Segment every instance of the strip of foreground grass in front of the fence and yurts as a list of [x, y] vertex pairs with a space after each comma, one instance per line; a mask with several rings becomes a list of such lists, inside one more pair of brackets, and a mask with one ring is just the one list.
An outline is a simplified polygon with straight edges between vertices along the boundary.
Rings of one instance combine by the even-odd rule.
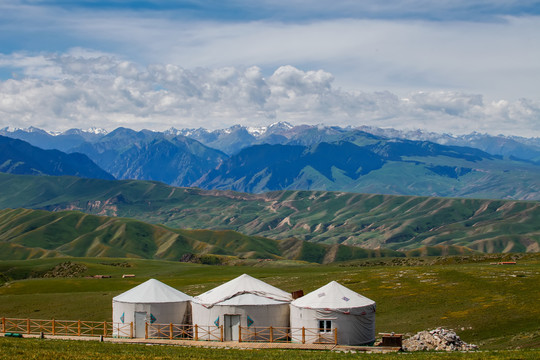
[[[180, 346], [147, 346], [138, 344], [111, 344], [96, 341], [65, 341], [0, 338], [6, 359], [357, 359], [395, 360], [403, 354], [352, 354], [317, 350], [238, 350], [209, 349]], [[536, 360], [539, 351], [497, 351], [478, 353], [418, 353], [405, 356], [410, 360]]]

